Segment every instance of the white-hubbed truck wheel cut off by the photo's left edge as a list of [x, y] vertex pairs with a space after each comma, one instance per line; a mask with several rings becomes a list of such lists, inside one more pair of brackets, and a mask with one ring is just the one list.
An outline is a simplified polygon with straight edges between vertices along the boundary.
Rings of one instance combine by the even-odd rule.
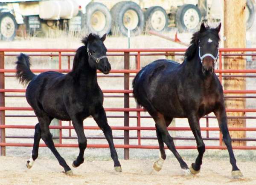
[[14, 16], [9, 13], [0, 14], [0, 39], [6, 41], [14, 40], [16, 35], [17, 23]]

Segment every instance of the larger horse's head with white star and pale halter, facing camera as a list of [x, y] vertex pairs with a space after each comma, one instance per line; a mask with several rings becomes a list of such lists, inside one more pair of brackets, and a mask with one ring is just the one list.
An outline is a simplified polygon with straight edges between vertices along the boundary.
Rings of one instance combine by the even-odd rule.
[[201, 24], [201, 37], [198, 40], [198, 55], [202, 63], [202, 72], [205, 75], [212, 74], [215, 62], [218, 59], [218, 33], [221, 29], [221, 23], [217, 28], [206, 28], [204, 23]]

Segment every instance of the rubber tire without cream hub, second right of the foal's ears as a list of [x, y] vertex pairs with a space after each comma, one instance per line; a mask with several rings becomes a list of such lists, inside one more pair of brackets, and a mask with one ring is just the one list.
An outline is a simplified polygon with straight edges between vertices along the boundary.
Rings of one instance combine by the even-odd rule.
[[125, 25], [123, 24], [123, 16], [125, 12], [128, 11], [129, 9], [134, 10], [137, 13], [139, 18], [139, 23], [137, 27], [131, 30], [131, 36], [136, 36], [143, 32], [145, 19], [144, 19], [143, 11], [142, 9], [140, 9], [140, 6], [134, 2], [122, 1], [122, 2], [116, 3], [115, 6], [113, 6], [110, 11], [113, 19], [112, 26], [111, 26], [112, 34], [113, 32], [115, 32], [114, 31], [115, 28], [119, 28], [119, 33], [127, 36], [128, 29], [125, 28]]

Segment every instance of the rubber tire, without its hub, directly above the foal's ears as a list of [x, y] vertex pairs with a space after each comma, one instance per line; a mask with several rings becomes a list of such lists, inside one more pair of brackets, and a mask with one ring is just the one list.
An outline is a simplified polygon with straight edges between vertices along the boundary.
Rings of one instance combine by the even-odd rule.
[[[95, 11], [101, 11], [105, 15], [106, 24], [105, 24], [105, 27], [102, 29], [102, 31], [96, 31], [90, 25], [91, 16]], [[111, 22], [112, 22], [111, 14], [108, 8], [102, 3], [89, 3], [86, 6], [86, 13], [82, 15], [81, 22], [82, 22], [81, 23], [82, 29], [84, 29], [88, 34], [94, 33], [94, 34], [103, 35], [103, 34], [109, 34], [109, 32], [111, 31]]]

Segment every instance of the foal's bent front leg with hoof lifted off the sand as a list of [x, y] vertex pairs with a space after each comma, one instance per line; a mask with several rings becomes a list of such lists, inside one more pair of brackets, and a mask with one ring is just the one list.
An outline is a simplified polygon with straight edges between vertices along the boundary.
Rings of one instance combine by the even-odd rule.
[[76, 160], [73, 161], [73, 164], [72, 164], [72, 166], [76, 168], [76, 167], [79, 167], [84, 162], [84, 150], [87, 147], [87, 139], [84, 135], [83, 120], [80, 120], [78, 118], [73, 118], [72, 123], [77, 134], [78, 145], [79, 145], [79, 155], [76, 158]]

